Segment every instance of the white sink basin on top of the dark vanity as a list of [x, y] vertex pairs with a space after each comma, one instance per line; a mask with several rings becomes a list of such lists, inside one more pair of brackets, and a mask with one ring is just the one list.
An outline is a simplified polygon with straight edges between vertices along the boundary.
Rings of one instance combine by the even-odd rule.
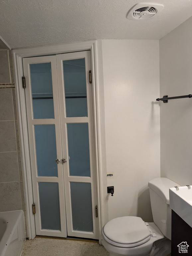
[[169, 205], [190, 227], [192, 227], [192, 185], [169, 189]]

